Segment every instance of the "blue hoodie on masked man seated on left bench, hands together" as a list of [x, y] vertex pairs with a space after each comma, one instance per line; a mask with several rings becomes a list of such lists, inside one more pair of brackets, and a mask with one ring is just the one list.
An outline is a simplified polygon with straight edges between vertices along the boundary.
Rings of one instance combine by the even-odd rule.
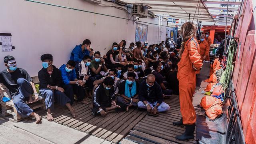
[[74, 81], [76, 79], [76, 70], [73, 69], [71, 72], [67, 72], [65, 68], [66, 64], [60, 66], [62, 82], [67, 85], [70, 81]]

